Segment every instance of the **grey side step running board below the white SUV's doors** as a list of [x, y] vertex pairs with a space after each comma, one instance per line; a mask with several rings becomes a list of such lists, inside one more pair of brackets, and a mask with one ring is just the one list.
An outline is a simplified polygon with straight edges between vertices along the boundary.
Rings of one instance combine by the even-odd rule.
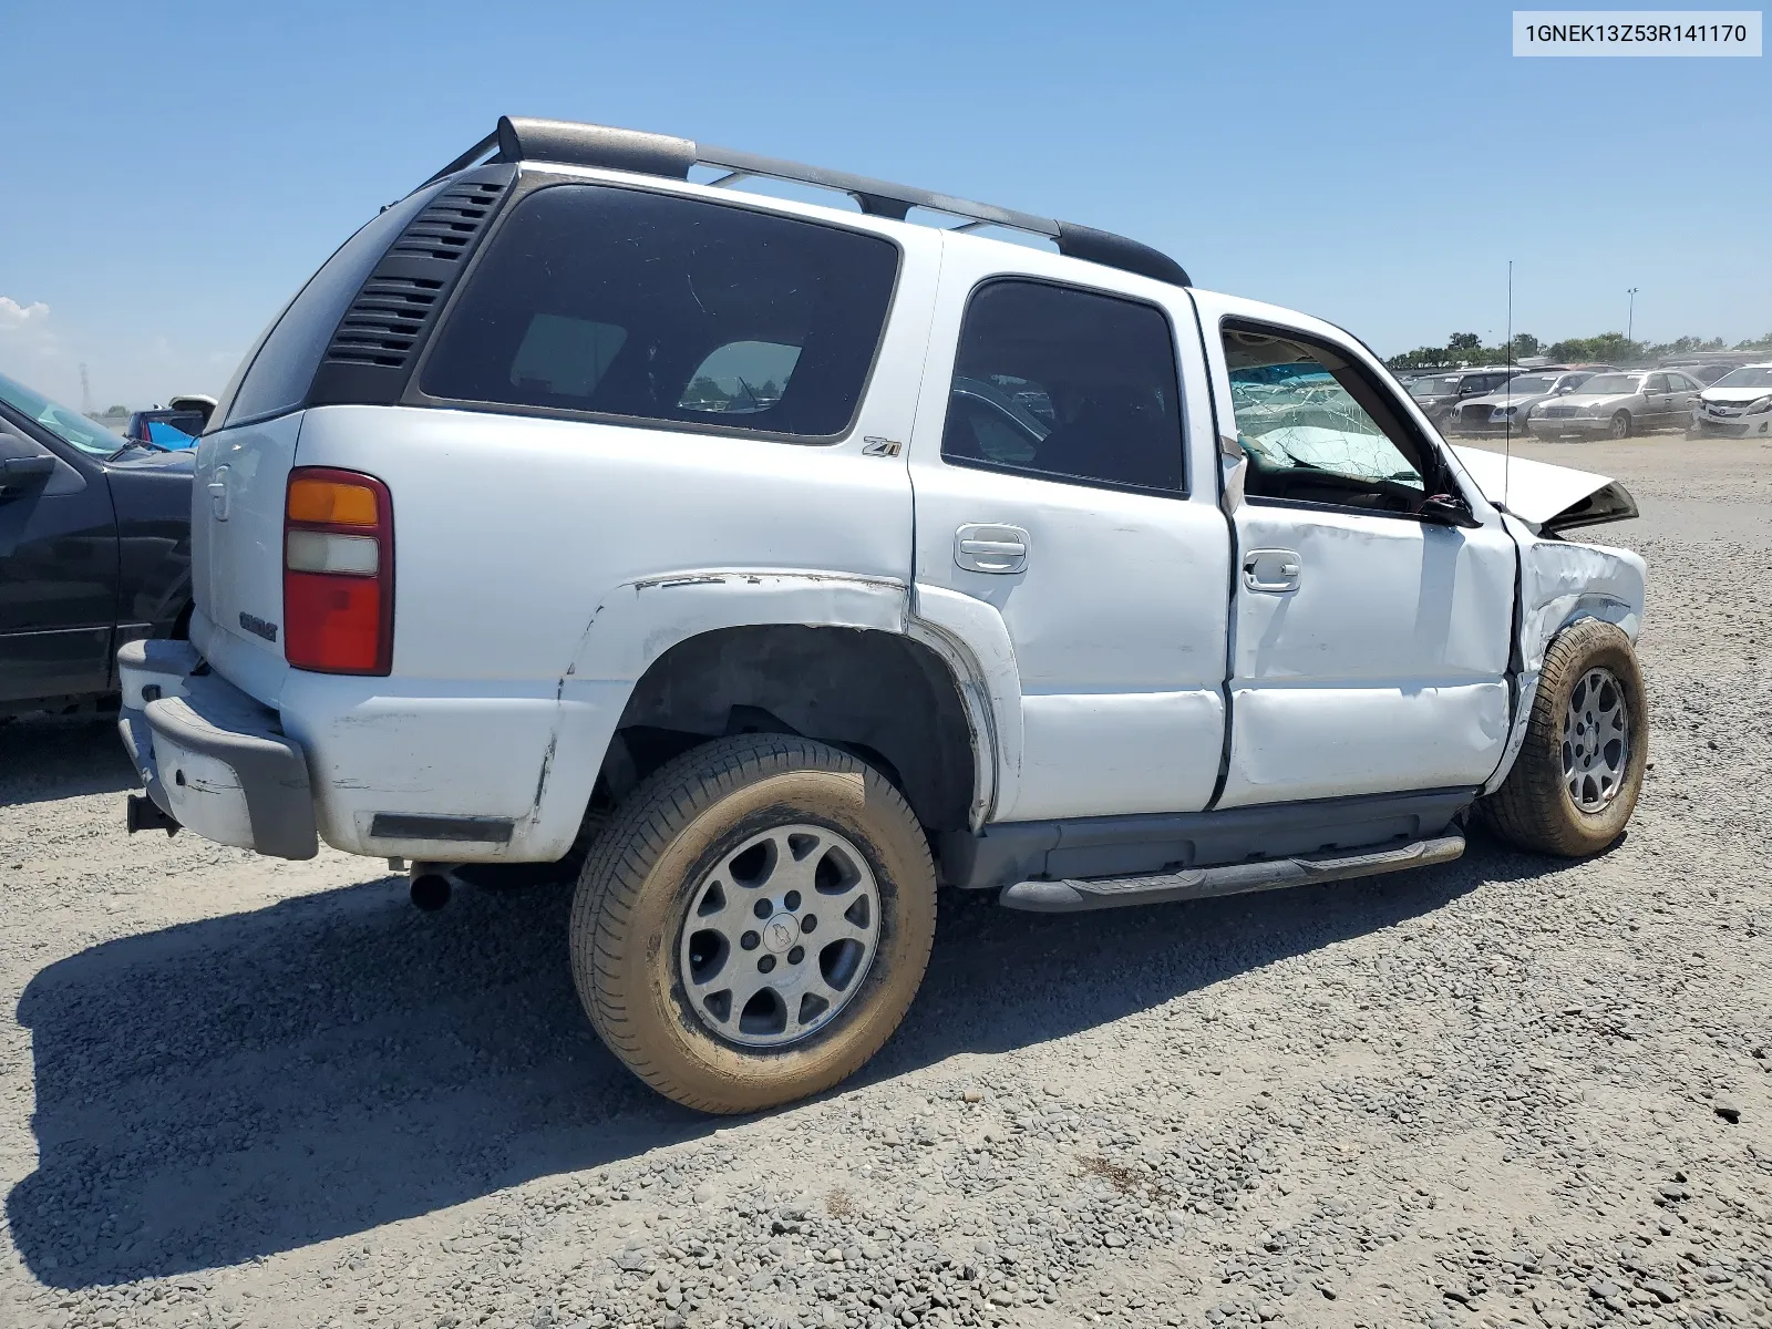
[[1361, 854], [1313, 854], [1310, 858], [1272, 858], [1258, 863], [1230, 863], [1217, 868], [1157, 872], [1148, 877], [1090, 877], [1086, 881], [1017, 881], [1006, 886], [998, 904], [1037, 914], [1070, 914], [1081, 909], [1115, 909], [1123, 904], [1162, 904], [1166, 900], [1203, 900], [1209, 895], [1272, 891], [1281, 886], [1306, 886], [1313, 881], [1375, 877], [1380, 872], [1423, 868], [1449, 863], [1464, 852], [1462, 835], [1414, 840], [1396, 849]]

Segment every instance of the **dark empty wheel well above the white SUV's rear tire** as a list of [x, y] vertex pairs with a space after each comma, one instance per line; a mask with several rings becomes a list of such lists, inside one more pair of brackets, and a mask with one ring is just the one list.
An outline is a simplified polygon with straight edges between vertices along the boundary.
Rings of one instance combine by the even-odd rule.
[[725, 734], [797, 734], [861, 757], [932, 835], [968, 826], [976, 753], [948, 666], [911, 638], [778, 624], [679, 641], [634, 684], [597, 797]]

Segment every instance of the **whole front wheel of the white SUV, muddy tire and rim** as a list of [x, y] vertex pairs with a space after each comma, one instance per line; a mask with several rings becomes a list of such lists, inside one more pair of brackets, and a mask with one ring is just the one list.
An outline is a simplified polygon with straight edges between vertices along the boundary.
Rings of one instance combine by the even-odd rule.
[[1584, 618], [1545, 652], [1526, 741], [1480, 813], [1520, 849], [1597, 854], [1623, 835], [1637, 806], [1648, 739], [1643, 670], [1630, 638]]

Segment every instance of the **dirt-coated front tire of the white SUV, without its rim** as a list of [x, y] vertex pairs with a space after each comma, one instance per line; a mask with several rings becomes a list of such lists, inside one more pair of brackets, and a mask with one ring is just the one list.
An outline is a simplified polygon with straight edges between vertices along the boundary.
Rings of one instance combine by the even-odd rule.
[[[1575, 806], [1563, 783], [1563, 727], [1575, 684], [1597, 666], [1611, 670], [1625, 693], [1630, 751], [1618, 794], [1604, 810], [1589, 813]], [[1540, 854], [1581, 858], [1600, 852], [1623, 835], [1637, 806], [1648, 737], [1643, 670], [1630, 638], [1613, 624], [1582, 618], [1563, 629], [1545, 652], [1526, 741], [1501, 789], [1478, 804], [1483, 822], [1508, 843]]]

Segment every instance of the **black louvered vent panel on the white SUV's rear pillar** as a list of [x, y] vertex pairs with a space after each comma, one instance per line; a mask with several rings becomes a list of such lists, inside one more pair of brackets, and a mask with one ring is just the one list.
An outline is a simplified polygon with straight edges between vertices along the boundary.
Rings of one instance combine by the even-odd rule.
[[[393, 400], [425, 331], [498, 211], [505, 179], [459, 179], [415, 216], [338, 321], [312, 404]], [[372, 386], [374, 385], [374, 386]]]

